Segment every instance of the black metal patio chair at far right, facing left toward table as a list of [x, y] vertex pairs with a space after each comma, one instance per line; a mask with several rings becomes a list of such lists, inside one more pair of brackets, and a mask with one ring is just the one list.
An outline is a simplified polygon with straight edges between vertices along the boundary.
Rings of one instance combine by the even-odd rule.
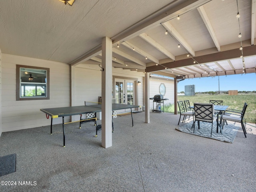
[[243, 119], [244, 119], [244, 114], [245, 114], [247, 106], [248, 106], [248, 104], [244, 103], [244, 107], [243, 107], [242, 111], [236, 110], [236, 109], [227, 109], [221, 117], [221, 121], [223, 122], [222, 129], [224, 128], [224, 121], [233, 121], [233, 122], [241, 123], [242, 129], [244, 132], [244, 136], [246, 137], [247, 133], [246, 133], [246, 129], [244, 127]]

